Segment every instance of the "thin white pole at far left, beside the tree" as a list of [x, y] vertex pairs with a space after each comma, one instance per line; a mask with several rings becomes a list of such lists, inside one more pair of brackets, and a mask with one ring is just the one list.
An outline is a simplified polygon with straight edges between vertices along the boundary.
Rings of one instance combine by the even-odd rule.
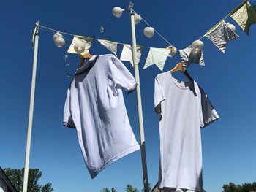
[[29, 154], [31, 146], [31, 132], [32, 132], [32, 122], [33, 122], [33, 112], [34, 112], [34, 90], [36, 87], [36, 73], [37, 73], [37, 52], [38, 52], [38, 32], [39, 23], [37, 22], [37, 31], [34, 37], [34, 60], [33, 60], [33, 72], [31, 80], [31, 92], [30, 92], [30, 104], [29, 104], [29, 124], [28, 124], [28, 134], [26, 137], [26, 157], [25, 157], [25, 167], [24, 167], [24, 178], [23, 178], [23, 192], [27, 191], [28, 188], [28, 177], [29, 177]]

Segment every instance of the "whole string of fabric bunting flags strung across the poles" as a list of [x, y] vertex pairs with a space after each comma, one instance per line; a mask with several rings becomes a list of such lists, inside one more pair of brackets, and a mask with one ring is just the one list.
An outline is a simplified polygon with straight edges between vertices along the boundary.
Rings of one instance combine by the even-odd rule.
[[[134, 11], [132, 9], [132, 11]], [[135, 11], [134, 11], [135, 12]], [[140, 17], [135, 12], [135, 18], [136, 16]], [[220, 20], [215, 26], [213, 26], [210, 30], [206, 32], [206, 34], [203, 35], [203, 37], [207, 37], [222, 53], [225, 53], [227, 43], [237, 39], [239, 36], [236, 34], [236, 27], [233, 24], [226, 23], [225, 19], [227, 17], [233, 18], [233, 20], [236, 21], [238, 26], [241, 27], [241, 29], [249, 35], [249, 28], [252, 24], [256, 23], [256, 8], [255, 5], [251, 5], [248, 0], [243, 1], [241, 4], [238, 5], [235, 9], [233, 9], [232, 12], [230, 12], [225, 18]], [[143, 20], [150, 28], [152, 28], [146, 20], [140, 17], [140, 20]], [[135, 22], [136, 23], [136, 22]], [[47, 31], [56, 32], [56, 34], [53, 35], [53, 40], [56, 43], [58, 47], [62, 47], [65, 44], [64, 37], [62, 34], [68, 34], [64, 32], [56, 31], [52, 28], [48, 28], [45, 26], [40, 26], [39, 28], [45, 29]], [[145, 28], [146, 29], [146, 28]], [[147, 31], [144, 29], [144, 34], [147, 37], [150, 37], [146, 34]], [[154, 31], [156, 31], [153, 28]], [[153, 34], [154, 34], [153, 31]], [[157, 32], [157, 31], [156, 31]], [[157, 34], [159, 34], [157, 32]], [[75, 53], [83, 55], [84, 53], [89, 53], [91, 43], [93, 40], [97, 40], [101, 45], [103, 45], [105, 48], [110, 50], [111, 53], [114, 55], [117, 55], [117, 49], [118, 44], [123, 45], [123, 49], [121, 51], [120, 60], [121, 61], [129, 61], [132, 66], [132, 46], [129, 44], [124, 44], [120, 42], [112, 42], [110, 40], [106, 39], [96, 39], [91, 37], [84, 37], [80, 35], [75, 34], [68, 34], [72, 35], [73, 39], [69, 46], [69, 49], [67, 50], [68, 53]], [[153, 35], [152, 35], [153, 36]], [[151, 37], [152, 37], [151, 36]], [[160, 37], [162, 37], [161, 34], [159, 34]], [[165, 66], [165, 61], [167, 57], [173, 57], [176, 55], [176, 53], [179, 51], [181, 56], [181, 62], [185, 66], [189, 66], [190, 64], [199, 64], [200, 66], [205, 66], [204, 59], [203, 59], [203, 42], [201, 39], [195, 40], [192, 42], [192, 45], [189, 45], [189, 47], [177, 50], [176, 47], [170, 44], [164, 37], [162, 39], [165, 39], [165, 41], [170, 45], [168, 47], [164, 48], [158, 48], [158, 47], [149, 47], [148, 55], [146, 58], [146, 63], [144, 64], [143, 69], [146, 69], [148, 66], [156, 65], [161, 71]], [[34, 38], [33, 38], [34, 39]], [[138, 63], [140, 62], [140, 57], [142, 54], [142, 51], [145, 49], [145, 47], [138, 45], [137, 46], [137, 52], [138, 52]]]

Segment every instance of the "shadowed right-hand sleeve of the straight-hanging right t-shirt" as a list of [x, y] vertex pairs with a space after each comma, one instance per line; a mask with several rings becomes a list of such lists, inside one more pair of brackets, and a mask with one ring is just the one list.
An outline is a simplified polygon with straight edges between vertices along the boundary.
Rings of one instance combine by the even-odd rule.
[[199, 89], [201, 95], [200, 127], [205, 128], [215, 120], [219, 119], [219, 115], [217, 114], [214, 106], [211, 104], [211, 101], [208, 99], [208, 96], [203, 91], [203, 89], [200, 87]]

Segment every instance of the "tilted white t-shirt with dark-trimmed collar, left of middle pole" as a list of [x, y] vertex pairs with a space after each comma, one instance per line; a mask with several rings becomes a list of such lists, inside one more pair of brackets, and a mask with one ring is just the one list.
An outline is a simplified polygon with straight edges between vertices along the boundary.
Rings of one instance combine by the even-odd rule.
[[114, 55], [93, 56], [75, 72], [64, 107], [64, 126], [76, 128], [91, 178], [113, 161], [139, 150], [121, 88], [135, 90], [129, 70]]

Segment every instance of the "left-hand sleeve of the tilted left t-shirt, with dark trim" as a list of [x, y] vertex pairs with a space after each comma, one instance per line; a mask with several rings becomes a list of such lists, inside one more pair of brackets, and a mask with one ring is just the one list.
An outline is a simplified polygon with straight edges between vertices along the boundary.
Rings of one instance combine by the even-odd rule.
[[72, 118], [71, 106], [70, 106], [70, 87], [67, 90], [67, 98], [64, 105], [63, 125], [69, 128], [75, 128], [75, 123]]

